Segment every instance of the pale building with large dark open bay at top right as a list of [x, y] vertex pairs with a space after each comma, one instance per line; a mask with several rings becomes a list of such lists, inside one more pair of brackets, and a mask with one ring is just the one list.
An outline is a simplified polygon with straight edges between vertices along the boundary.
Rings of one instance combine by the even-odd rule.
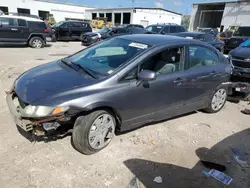
[[250, 1], [228, 1], [193, 4], [189, 30], [197, 27], [250, 26]]

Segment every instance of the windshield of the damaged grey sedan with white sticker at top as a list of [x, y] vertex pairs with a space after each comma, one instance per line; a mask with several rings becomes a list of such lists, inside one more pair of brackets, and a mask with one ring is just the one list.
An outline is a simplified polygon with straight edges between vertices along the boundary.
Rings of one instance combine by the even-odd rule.
[[148, 47], [146, 44], [112, 38], [72, 55], [69, 61], [95, 74], [107, 76]]

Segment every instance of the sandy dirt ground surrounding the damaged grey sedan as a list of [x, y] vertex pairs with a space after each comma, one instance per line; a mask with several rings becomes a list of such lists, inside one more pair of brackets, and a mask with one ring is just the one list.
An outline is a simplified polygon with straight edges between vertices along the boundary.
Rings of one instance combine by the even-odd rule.
[[[249, 116], [241, 113], [247, 107], [242, 101], [227, 102], [217, 114], [198, 111], [117, 135], [91, 156], [74, 150], [70, 136], [48, 143], [22, 136], [4, 91], [24, 71], [83, 48], [80, 42], [0, 48], [0, 188], [118, 188], [127, 187], [135, 175], [142, 187], [224, 187], [201, 173], [208, 169], [200, 159], [225, 165], [233, 178], [228, 187], [250, 187], [249, 168], [239, 166], [230, 150], [242, 150], [250, 159]], [[157, 176], [162, 183], [153, 182]]]

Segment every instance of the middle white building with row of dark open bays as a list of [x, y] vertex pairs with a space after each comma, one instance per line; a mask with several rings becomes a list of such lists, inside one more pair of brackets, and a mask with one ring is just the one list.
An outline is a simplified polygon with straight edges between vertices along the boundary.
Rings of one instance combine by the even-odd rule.
[[156, 23], [181, 24], [182, 15], [162, 8], [113, 8], [88, 9], [86, 18], [107, 17], [113, 25], [141, 24], [144, 27]]

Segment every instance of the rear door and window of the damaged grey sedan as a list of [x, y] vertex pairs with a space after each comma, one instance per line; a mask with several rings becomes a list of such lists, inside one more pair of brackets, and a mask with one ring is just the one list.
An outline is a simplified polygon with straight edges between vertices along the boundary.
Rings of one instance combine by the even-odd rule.
[[208, 47], [190, 45], [187, 50], [190, 72], [187, 82], [188, 106], [204, 107], [210, 95], [225, 79], [226, 64], [218, 53]]

